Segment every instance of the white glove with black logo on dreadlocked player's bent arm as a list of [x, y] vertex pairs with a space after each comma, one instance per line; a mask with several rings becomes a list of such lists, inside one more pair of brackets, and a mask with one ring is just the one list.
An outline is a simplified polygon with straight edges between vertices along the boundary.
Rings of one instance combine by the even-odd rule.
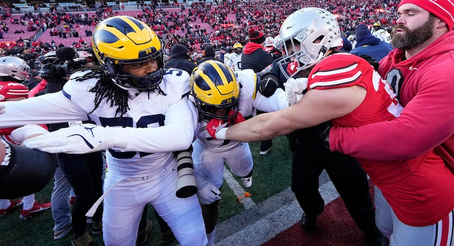
[[82, 124], [24, 141], [24, 146], [48, 153], [85, 154], [114, 147], [115, 135], [109, 127]]

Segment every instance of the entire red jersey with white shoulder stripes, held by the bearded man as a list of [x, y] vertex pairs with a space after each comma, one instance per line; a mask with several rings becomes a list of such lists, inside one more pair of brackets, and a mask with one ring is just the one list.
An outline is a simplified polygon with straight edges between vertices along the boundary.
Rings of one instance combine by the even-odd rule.
[[[332, 54], [314, 66], [308, 79], [308, 89], [331, 89], [362, 86], [366, 92], [363, 102], [349, 114], [332, 119], [334, 126], [359, 127], [373, 122], [391, 120], [402, 111], [396, 94], [386, 80], [356, 55]], [[437, 180], [447, 169], [440, 156], [430, 151], [410, 160], [373, 161], [359, 159], [364, 170], [393, 208], [396, 216], [411, 226], [433, 224], [451, 209], [445, 197], [432, 196], [439, 189]], [[437, 207], [440, 209], [432, 209]]]

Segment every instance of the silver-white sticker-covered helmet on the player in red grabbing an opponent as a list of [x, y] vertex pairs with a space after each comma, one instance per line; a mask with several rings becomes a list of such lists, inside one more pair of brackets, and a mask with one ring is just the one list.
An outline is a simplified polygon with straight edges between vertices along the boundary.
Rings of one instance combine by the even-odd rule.
[[[279, 61], [287, 78], [317, 64], [329, 49], [342, 48], [341, 30], [336, 18], [326, 10], [304, 8], [293, 12], [281, 26], [278, 49], [283, 49], [284, 59]], [[287, 74], [287, 64], [298, 61], [293, 74]]]

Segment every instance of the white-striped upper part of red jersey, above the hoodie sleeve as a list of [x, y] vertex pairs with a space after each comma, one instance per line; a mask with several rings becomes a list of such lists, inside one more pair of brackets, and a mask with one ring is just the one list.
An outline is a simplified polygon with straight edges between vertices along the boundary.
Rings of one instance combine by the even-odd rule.
[[309, 74], [309, 89], [332, 89], [358, 85], [367, 90], [364, 101], [351, 113], [331, 120], [341, 127], [359, 127], [391, 120], [402, 111], [396, 94], [386, 80], [363, 58], [347, 53], [330, 55]]

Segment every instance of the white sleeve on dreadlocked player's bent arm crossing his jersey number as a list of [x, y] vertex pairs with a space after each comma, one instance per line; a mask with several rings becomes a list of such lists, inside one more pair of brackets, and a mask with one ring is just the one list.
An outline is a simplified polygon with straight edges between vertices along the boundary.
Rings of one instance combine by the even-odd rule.
[[[157, 128], [112, 128], [117, 143], [126, 143], [121, 151], [147, 153], [186, 150], [192, 143], [197, 114], [187, 96], [166, 111], [165, 125]], [[116, 144], [116, 146], [119, 146]], [[120, 144], [123, 146], [123, 144]]]

